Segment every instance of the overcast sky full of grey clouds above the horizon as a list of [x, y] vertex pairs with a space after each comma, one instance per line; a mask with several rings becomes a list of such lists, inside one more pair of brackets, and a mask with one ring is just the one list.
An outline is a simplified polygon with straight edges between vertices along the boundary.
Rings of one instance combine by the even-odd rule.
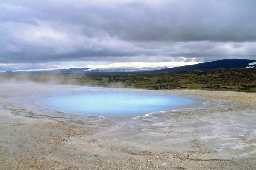
[[255, 0], [1, 0], [0, 71], [256, 60]]

